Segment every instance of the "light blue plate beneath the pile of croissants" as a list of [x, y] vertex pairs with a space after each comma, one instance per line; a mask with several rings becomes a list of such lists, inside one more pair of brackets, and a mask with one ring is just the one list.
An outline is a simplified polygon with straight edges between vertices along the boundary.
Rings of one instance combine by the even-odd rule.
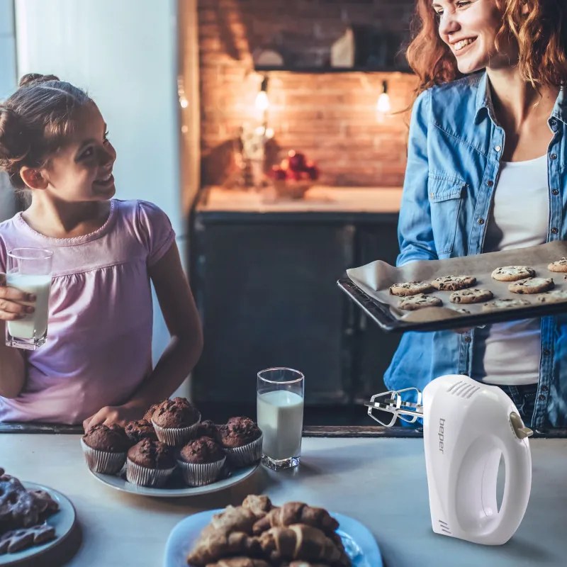
[[[222, 511], [221, 508], [206, 510], [181, 520], [172, 529], [167, 544], [165, 544], [164, 567], [187, 567], [187, 554], [201, 530], [210, 522], [213, 514]], [[341, 537], [344, 549], [352, 559], [352, 567], [383, 567], [380, 549], [368, 528], [352, 517], [335, 512], [330, 513], [340, 524], [337, 534]]]

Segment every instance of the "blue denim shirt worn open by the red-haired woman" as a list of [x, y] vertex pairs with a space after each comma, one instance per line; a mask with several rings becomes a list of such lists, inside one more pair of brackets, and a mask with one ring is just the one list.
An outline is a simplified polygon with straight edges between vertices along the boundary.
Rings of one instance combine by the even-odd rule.
[[[547, 242], [567, 235], [567, 99], [548, 119]], [[397, 265], [481, 254], [505, 132], [485, 72], [417, 97], [400, 208]], [[521, 198], [521, 196], [519, 196]], [[384, 376], [388, 388], [423, 387], [443, 374], [471, 375], [475, 332], [407, 332]], [[514, 387], [512, 386], [512, 391]], [[567, 315], [541, 318], [539, 385], [532, 426], [567, 427]]]

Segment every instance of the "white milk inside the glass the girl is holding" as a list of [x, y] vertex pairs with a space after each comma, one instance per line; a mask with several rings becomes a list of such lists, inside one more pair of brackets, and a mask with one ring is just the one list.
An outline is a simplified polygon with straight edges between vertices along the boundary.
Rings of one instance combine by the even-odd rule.
[[26, 293], [35, 293], [37, 299], [33, 303], [35, 311], [16, 321], [8, 321], [8, 332], [18, 339], [42, 337], [47, 330], [49, 313], [49, 291], [51, 276], [35, 276], [30, 274], [6, 274], [6, 285], [18, 288]]

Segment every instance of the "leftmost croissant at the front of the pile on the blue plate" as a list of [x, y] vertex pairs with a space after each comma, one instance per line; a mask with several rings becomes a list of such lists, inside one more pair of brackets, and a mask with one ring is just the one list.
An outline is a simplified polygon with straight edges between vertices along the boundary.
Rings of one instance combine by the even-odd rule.
[[189, 551], [187, 563], [203, 566], [230, 556], [258, 556], [260, 551], [256, 538], [249, 537], [244, 532], [227, 534], [218, 530], [206, 535], [201, 534], [193, 549]]

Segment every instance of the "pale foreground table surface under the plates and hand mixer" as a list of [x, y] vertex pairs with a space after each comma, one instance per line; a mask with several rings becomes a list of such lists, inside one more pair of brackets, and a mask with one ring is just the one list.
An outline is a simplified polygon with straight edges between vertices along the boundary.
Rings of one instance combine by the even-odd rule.
[[[432, 532], [421, 439], [308, 437], [295, 471], [261, 467], [228, 490], [171, 500], [119, 493], [97, 481], [84, 464], [79, 435], [0, 434], [0, 464], [22, 480], [60, 490], [77, 509], [82, 541], [76, 554], [54, 550], [33, 567], [158, 567], [177, 522], [237, 505], [249, 493], [265, 493], [276, 504], [304, 500], [356, 518], [374, 534], [387, 567], [560, 567], [567, 556], [567, 440], [534, 439], [531, 446], [532, 496], [504, 546]], [[73, 541], [77, 547], [79, 536]]]

